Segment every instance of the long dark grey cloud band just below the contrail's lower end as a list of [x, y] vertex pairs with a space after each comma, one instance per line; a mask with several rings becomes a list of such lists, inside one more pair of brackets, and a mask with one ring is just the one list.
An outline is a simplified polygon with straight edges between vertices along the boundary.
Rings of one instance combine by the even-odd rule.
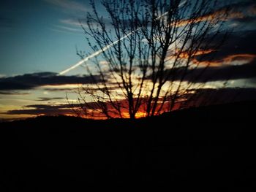
[[94, 76], [94, 80], [91, 76], [57, 76], [53, 72], [40, 72], [15, 77], [2, 77], [0, 78], [0, 90], [26, 90], [42, 85], [97, 83], [99, 82], [99, 76]]

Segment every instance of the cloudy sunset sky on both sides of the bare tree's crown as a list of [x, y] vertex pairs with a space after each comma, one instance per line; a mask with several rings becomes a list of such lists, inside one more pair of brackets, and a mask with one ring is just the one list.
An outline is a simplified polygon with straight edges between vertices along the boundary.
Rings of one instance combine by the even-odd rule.
[[[96, 1], [102, 15], [105, 10]], [[230, 88], [244, 88], [244, 99], [256, 98], [256, 3], [232, 1], [233, 14], [228, 42], [219, 50], [208, 74], [221, 81], [232, 64]], [[86, 0], [2, 0], [0, 2], [0, 118], [34, 115], [72, 114], [67, 104], [75, 101], [73, 89], [91, 83], [78, 67], [56, 76], [80, 61], [76, 50], [89, 53], [83, 29], [78, 22], [91, 12]], [[211, 55], [211, 53], [209, 54]], [[214, 88], [209, 86], [208, 88]], [[248, 91], [248, 93], [246, 92]]]

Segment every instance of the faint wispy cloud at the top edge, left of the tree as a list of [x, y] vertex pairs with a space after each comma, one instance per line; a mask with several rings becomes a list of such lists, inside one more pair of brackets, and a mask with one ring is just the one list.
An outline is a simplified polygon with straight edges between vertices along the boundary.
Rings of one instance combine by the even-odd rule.
[[45, 0], [49, 4], [53, 4], [57, 7], [60, 7], [64, 10], [72, 10], [72, 11], [79, 11], [79, 12], [86, 12], [89, 11], [89, 7], [86, 7], [85, 4], [81, 4], [78, 1], [71, 1], [71, 0]]

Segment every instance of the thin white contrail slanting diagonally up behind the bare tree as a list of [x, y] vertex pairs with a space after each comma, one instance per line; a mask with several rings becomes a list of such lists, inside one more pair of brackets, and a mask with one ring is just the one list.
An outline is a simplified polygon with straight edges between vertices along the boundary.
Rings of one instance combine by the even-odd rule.
[[[183, 1], [181, 4], [178, 5], [178, 7], [181, 7], [183, 4], [185, 4], [187, 0]], [[159, 15], [159, 17], [156, 18], [156, 20], [161, 19], [163, 16], [167, 15], [168, 12], [163, 13], [162, 15]], [[140, 27], [141, 28], [141, 27]], [[68, 69], [65, 69], [62, 72], [59, 72], [59, 74], [57, 75], [62, 75], [62, 74], [66, 74], [67, 72], [70, 72], [72, 69], [77, 68], [78, 66], [80, 66], [81, 64], [83, 64], [84, 62], [88, 61], [90, 58], [94, 58], [95, 56], [99, 55], [102, 52], [105, 52], [105, 50], [108, 50], [110, 47], [112, 47], [113, 45], [115, 45], [116, 43], [120, 42], [121, 40], [129, 37], [131, 34], [134, 34], [136, 31], [140, 30], [140, 28], [135, 29], [134, 31], [129, 32], [129, 34], [125, 35], [124, 37], [121, 37], [120, 39], [116, 40], [116, 42], [111, 43], [110, 45], [107, 45], [106, 47], [103, 47], [102, 50], [98, 50], [95, 53], [92, 53], [91, 55], [87, 56], [86, 58], [83, 58], [81, 61], [78, 61], [77, 64], [70, 66]]]

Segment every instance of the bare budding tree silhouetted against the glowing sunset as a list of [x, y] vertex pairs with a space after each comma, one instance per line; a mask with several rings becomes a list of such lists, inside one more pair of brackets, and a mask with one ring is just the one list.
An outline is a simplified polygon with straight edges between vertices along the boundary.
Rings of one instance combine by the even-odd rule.
[[82, 27], [91, 49], [102, 54], [84, 64], [100, 80], [78, 90], [83, 112], [135, 118], [175, 109], [189, 90], [204, 85], [195, 83], [210, 65], [203, 56], [225, 39], [217, 37], [225, 34], [228, 8], [217, 10], [218, 2], [102, 0], [108, 13], [102, 17], [91, 1], [93, 12]]

